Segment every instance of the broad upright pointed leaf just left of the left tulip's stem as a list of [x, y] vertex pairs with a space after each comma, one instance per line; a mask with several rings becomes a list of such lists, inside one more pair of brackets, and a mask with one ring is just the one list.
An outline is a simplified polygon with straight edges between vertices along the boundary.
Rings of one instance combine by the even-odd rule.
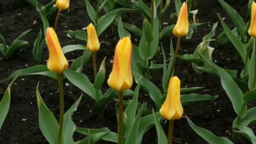
[[37, 84], [36, 95], [40, 130], [50, 144], [58, 144], [59, 124], [53, 113], [43, 102], [43, 99], [38, 91], [38, 86], [39, 83]]

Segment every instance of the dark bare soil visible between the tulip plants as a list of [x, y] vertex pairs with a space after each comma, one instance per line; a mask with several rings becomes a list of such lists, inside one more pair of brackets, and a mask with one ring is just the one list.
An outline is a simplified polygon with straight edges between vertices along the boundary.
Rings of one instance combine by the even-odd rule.
[[[39, 0], [41, 3], [46, 4], [51, 0]], [[245, 18], [246, 2], [247, 0], [226, 0], [238, 13]], [[146, 2], [149, 4], [149, 0]], [[91, 4], [95, 7], [96, 0], [91, 0]], [[36, 65], [32, 57], [32, 47], [35, 38], [38, 35], [40, 28], [43, 29], [41, 24], [39, 13], [32, 6], [20, 0], [3, 0], [0, 2], [0, 33], [5, 38], [8, 45], [27, 29], [33, 29], [24, 39], [29, 42], [27, 47], [19, 52], [10, 61], [0, 59], [0, 80], [10, 75], [12, 72], [31, 67]], [[193, 5], [192, 10], [198, 9], [197, 19], [200, 22], [204, 22], [203, 26], [197, 28], [197, 32], [193, 35], [192, 39], [182, 39], [182, 50], [179, 54], [193, 53], [197, 45], [202, 42], [202, 37], [211, 32], [212, 25], [218, 21], [216, 13], [219, 13], [222, 17], [226, 17], [225, 21], [229, 27], [232, 26], [232, 22], [229, 21], [226, 12], [219, 5], [217, 0], [198, 0], [198, 4], [195, 7]], [[175, 12], [174, 2], [171, 0], [168, 11], [163, 16], [163, 22], [168, 22], [171, 13]], [[66, 37], [66, 31], [69, 29], [80, 30], [86, 27], [92, 21], [89, 19], [85, 4], [83, 0], [70, 0], [69, 11], [63, 11], [63, 15], [60, 18], [57, 35], [61, 46], [72, 44], [83, 44], [81, 41], [72, 40]], [[135, 24], [138, 27], [142, 27], [143, 16], [136, 13], [124, 13], [122, 14], [124, 22]], [[189, 18], [192, 20], [192, 17]], [[37, 21], [35, 24], [34, 21]], [[176, 19], [171, 21], [171, 24], [175, 24]], [[53, 26], [53, 22], [51, 22]], [[162, 25], [165, 27], [166, 25]], [[216, 29], [217, 38], [223, 29], [221, 24]], [[106, 69], [107, 75], [109, 75], [112, 68], [112, 64], [109, 61], [112, 59], [115, 45], [118, 41], [117, 28], [115, 35], [111, 34], [111, 28], [108, 28], [99, 37], [100, 41], [105, 43], [101, 44], [101, 49], [98, 53], [97, 66], [99, 67], [101, 60], [107, 56]], [[132, 42], [138, 45], [136, 37], [132, 37]], [[139, 39], [138, 39], [139, 40]], [[106, 44], [109, 43], [109, 44]], [[169, 53], [170, 37], [162, 40], [162, 44], [165, 48], [165, 53]], [[176, 45], [176, 39], [173, 37], [173, 45]], [[213, 61], [216, 61], [220, 67], [227, 69], [237, 69], [239, 72], [243, 69], [243, 64], [240, 59], [234, 60], [235, 48], [232, 45], [227, 47], [219, 47], [216, 42], [211, 42], [211, 46], [216, 48], [213, 52]], [[185, 52], [186, 51], [186, 52]], [[67, 59], [75, 59], [80, 56], [82, 52], [76, 51], [68, 53]], [[155, 59], [158, 63], [163, 62], [163, 58], [159, 53], [159, 59]], [[169, 58], [169, 57], [168, 57]], [[48, 59], [48, 50], [45, 48], [43, 53], [43, 64], [46, 64]], [[93, 67], [92, 62], [89, 61], [84, 67], [83, 73], [85, 73], [91, 81], [93, 81]], [[159, 88], [162, 87], [162, 71], [153, 71], [152, 82]], [[219, 95], [219, 98], [215, 101], [198, 103], [184, 107], [184, 115], [187, 115], [196, 125], [206, 128], [212, 131], [217, 136], [226, 136], [231, 138], [232, 120], [236, 117], [232, 104], [227, 97], [227, 94], [221, 87], [219, 77], [214, 75], [203, 74], [203, 81], [198, 82], [197, 73], [193, 70], [192, 65], [177, 61], [175, 75], [181, 80], [182, 87], [201, 86], [204, 90], [198, 91], [201, 94]], [[9, 113], [5, 119], [5, 123], [0, 131], [0, 144], [47, 144], [48, 142], [43, 137], [38, 125], [38, 109], [35, 97], [35, 88], [37, 82], [40, 81], [39, 91], [41, 96], [47, 105], [47, 107], [53, 112], [57, 119], [59, 119], [59, 97], [57, 91], [57, 84], [53, 80], [45, 76], [29, 76], [18, 78], [11, 88], [11, 107]], [[72, 83], [69, 86], [65, 86], [65, 110], [67, 110], [80, 96], [82, 91], [76, 88]], [[9, 82], [0, 83], [0, 96], [3, 96], [5, 89]], [[134, 84], [136, 85], [136, 84]], [[108, 85], [104, 83], [103, 91], [107, 90]], [[141, 90], [143, 93], [143, 90]], [[0, 97], [1, 99], [1, 97]], [[149, 107], [153, 107], [153, 102], [149, 96], [140, 95], [140, 102], [147, 101]], [[83, 93], [83, 99], [73, 116], [73, 120], [78, 127], [84, 128], [102, 128], [108, 127], [111, 131], [117, 131], [117, 122], [115, 115], [115, 102], [109, 102], [104, 109], [104, 119], [99, 118], [99, 113], [94, 112], [91, 107], [94, 104], [94, 100], [88, 95]], [[255, 106], [256, 104], [249, 104], [248, 107]], [[165, 132], [168, 131], [168, 126], [164, 126]], [[78, 133], [74, 134], [75, 140], [83, 139], [85, 136]], [[189, 127], [187, 120], [183, 117], [181, 120], [175, 122], [174, 140], [176, 143], [191, 143], [191, 144], [204, 144], [206, 141], [200, 138]], [[246, 144], [248, 141], [242, 137], [238, 139], [240, 144]], [[142, 144], [156, 144], [157, 134], [155, 128], [150, 129], [143, 138]], [[111, 144], [107, 141], [100, 141], [99, 144]]]

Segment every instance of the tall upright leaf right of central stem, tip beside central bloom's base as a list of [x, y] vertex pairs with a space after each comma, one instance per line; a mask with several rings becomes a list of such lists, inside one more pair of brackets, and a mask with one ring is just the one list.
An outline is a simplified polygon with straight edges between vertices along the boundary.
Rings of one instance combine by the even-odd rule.
[[124, 110], [124, 113], [127, 115], [127, 128], [125, 129], [124, 136], [128, 135], [128, 133], [130, 132], [130, 130], [135, 122], [140, 85], [141, 85], [141, 80], [139, 80], [139, 82], [135, 88], [135, 91], [133, 94], [133, 100]]

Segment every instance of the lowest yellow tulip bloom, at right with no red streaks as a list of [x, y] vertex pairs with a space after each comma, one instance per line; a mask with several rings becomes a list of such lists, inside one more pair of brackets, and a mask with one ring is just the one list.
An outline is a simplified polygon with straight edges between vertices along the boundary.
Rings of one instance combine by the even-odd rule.
[[183, 115], [180, 96], [181, 81], [178, 77], [172, 77], [169, 83], [168, 93], [163, 103], [160, 114], [167, 120], [177, 120]]

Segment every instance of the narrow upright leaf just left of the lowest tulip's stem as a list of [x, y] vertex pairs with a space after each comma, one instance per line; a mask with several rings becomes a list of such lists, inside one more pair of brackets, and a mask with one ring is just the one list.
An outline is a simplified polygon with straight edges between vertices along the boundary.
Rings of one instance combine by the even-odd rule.
[[162, 125], [160, 124], [159, 120], [155, 116], [155, 111], [152, 109], [152, 113], [154, 116], [154, 122], [155, 122], [155, 129], [157, 130], [157, 144], [167, 144], [168, 140], [166, 139], [165, 132], [163, 131]]

